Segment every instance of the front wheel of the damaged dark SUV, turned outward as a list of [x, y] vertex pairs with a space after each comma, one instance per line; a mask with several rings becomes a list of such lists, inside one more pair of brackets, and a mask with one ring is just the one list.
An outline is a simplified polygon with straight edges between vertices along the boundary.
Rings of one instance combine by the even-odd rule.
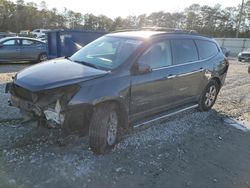
[[89, 127], [89, 146], [94, 153], [107, 153], [117, 143], [121, 133], [118, 111], [113, 103], [94, 109]]

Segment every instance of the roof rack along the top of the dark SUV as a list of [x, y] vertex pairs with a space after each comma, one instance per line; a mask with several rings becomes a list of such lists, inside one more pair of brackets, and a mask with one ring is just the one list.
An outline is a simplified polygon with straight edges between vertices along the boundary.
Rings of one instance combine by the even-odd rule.
[[136, 29], [117, 30], [114, 32], [118, 33], [118, 32], [126, 32], [126, 31], [165, 31], [165, 32], [174, 32], [174, 33], [198, 34], [198, 32], [195, 30], [183, 30], [183, 29], [178, 29], [178, 28], [166, 28], [166, 27], [141, 27], [141, 28], [136, 28]]

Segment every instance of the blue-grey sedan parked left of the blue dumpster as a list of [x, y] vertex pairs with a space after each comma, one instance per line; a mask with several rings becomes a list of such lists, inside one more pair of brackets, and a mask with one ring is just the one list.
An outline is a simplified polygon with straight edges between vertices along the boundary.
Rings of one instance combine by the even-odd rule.
[[0, 39], [0, 62], [47, 60], [46, 44], [27, 37], [6, 37]]

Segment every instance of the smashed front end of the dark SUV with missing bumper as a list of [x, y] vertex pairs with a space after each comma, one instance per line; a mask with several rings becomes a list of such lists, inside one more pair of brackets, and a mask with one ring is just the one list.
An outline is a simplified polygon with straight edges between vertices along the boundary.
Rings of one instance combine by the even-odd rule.
[[11, 93], [10, 105], [19, 108], [30, 118], [55, 128], [65, 123], [68, 102], [79, 88], [78, 85], [71, 85], [32, 92], [13, 82], [6, 85], [6, 92]]

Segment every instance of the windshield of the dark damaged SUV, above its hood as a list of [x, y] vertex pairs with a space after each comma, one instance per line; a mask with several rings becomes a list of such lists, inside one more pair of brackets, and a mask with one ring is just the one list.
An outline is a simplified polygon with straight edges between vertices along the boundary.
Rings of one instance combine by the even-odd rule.
[[104, 36], [83, 47], [70, 60], [113, 70], [125, 62], [141, 43], [135, 39]]

